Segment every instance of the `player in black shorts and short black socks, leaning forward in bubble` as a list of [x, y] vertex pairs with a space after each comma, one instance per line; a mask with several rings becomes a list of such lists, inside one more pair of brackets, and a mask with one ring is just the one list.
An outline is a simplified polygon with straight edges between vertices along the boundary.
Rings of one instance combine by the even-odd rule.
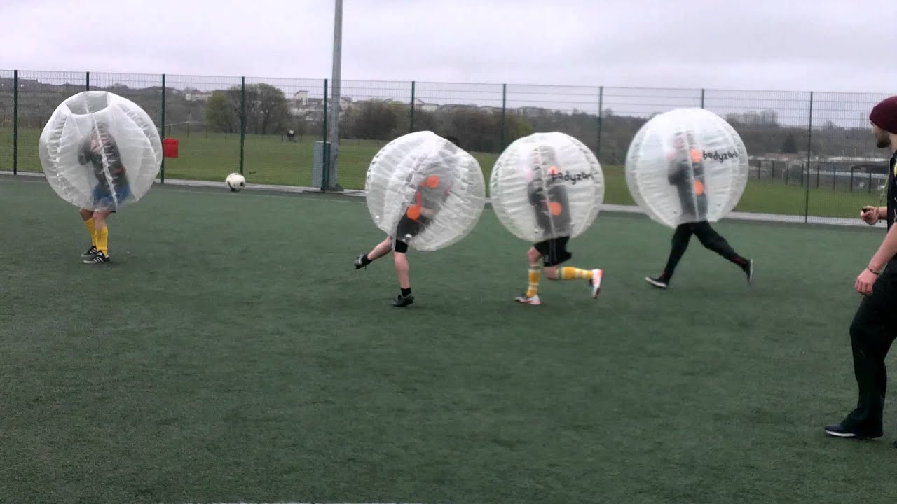
[[[457, 137], [446, 136], [446, 140], [459, 146]], [[411, 183], [414, 178], [420, 179], [414, 191], [414, 199], [405, 206], [405, 212], [399, 219], [396, 226], [396, 235], [387, 236], [386, 239], [379, 242], [367, 254], [360, 254], [355, 257], [355, 269], [361, 269], [370, 265], [382, 256], [386, 256], [390, 250], [393, 252], [393, 262], [396, 266], [396, 276], [398, 277], [399, 293], [393, 306], [404, 308], [414, 303], [414, 296], [411, 293], [411, 273], [408, 265], [408, 241], [424, 230], [432, 221], [433, 216], [439, 211], [440, 205], [448, 197], [451, 190], [450, 178], [448, 172], [450, 167], [446, 166], [444, 160], [440, 160], [442, 156], [451, 156], [448, 149], [439, 152], [435, 159], [424, 161], [420, 169], [414, 170], [408, 178]]]

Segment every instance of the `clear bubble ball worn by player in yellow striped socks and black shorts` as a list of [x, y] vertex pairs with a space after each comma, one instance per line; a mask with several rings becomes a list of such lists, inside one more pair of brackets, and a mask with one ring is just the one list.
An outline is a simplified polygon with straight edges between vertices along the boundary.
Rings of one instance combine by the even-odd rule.
[[499, 221], [531, 243], [578, 237], [595, 222], [605, 198], [595, 154], [559, 132], [511, 143], [495, 161], [489, 187]]

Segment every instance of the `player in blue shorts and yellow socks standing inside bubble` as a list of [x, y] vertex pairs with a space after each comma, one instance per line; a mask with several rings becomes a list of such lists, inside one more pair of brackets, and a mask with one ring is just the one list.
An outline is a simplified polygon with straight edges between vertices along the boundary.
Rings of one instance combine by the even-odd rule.
[[82, 208], [81, 218], [91, 234], [91, 248], [82, 254], [86, 265], [109, 263], [109, 226], [106, 219], [115, 213], [118, 204], [130, 196], [125, 165], [118, 152], [118, 143], [109, 128], [97, 123], [91, 135], [78, 150], [78, 163], [90, 165], [97, 185], [93, 187], [93, 208]]

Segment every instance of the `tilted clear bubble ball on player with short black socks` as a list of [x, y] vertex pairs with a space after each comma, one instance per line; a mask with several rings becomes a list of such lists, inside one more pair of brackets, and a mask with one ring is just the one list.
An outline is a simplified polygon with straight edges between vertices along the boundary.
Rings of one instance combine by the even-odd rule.
[[474, 156], [430, 131], [400, 136], [380, 149], [364, 189], [377, 227], [422, 251], [466, 237], [486, 200], [483, 169]]

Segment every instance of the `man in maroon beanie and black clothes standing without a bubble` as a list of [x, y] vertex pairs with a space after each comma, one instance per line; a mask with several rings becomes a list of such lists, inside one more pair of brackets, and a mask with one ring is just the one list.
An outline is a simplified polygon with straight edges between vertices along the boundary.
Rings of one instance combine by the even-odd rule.
[[[887, 220], [882, 245], [859, 274], [854, 288], [863, 295], [850, 323], [853, 372], [857, 378], [857, 407], [840, 423], [825, 427], [839, 438], [881, 438], [887, 374], [884, 358], [897, 338], [897, 96], [881, 101], [869, 115], [875, 146], [892, 152], [888, 169], [888, 205], [863, 207], [868, 224]], [[897, 446], [897, 443], [895, 443]]]

